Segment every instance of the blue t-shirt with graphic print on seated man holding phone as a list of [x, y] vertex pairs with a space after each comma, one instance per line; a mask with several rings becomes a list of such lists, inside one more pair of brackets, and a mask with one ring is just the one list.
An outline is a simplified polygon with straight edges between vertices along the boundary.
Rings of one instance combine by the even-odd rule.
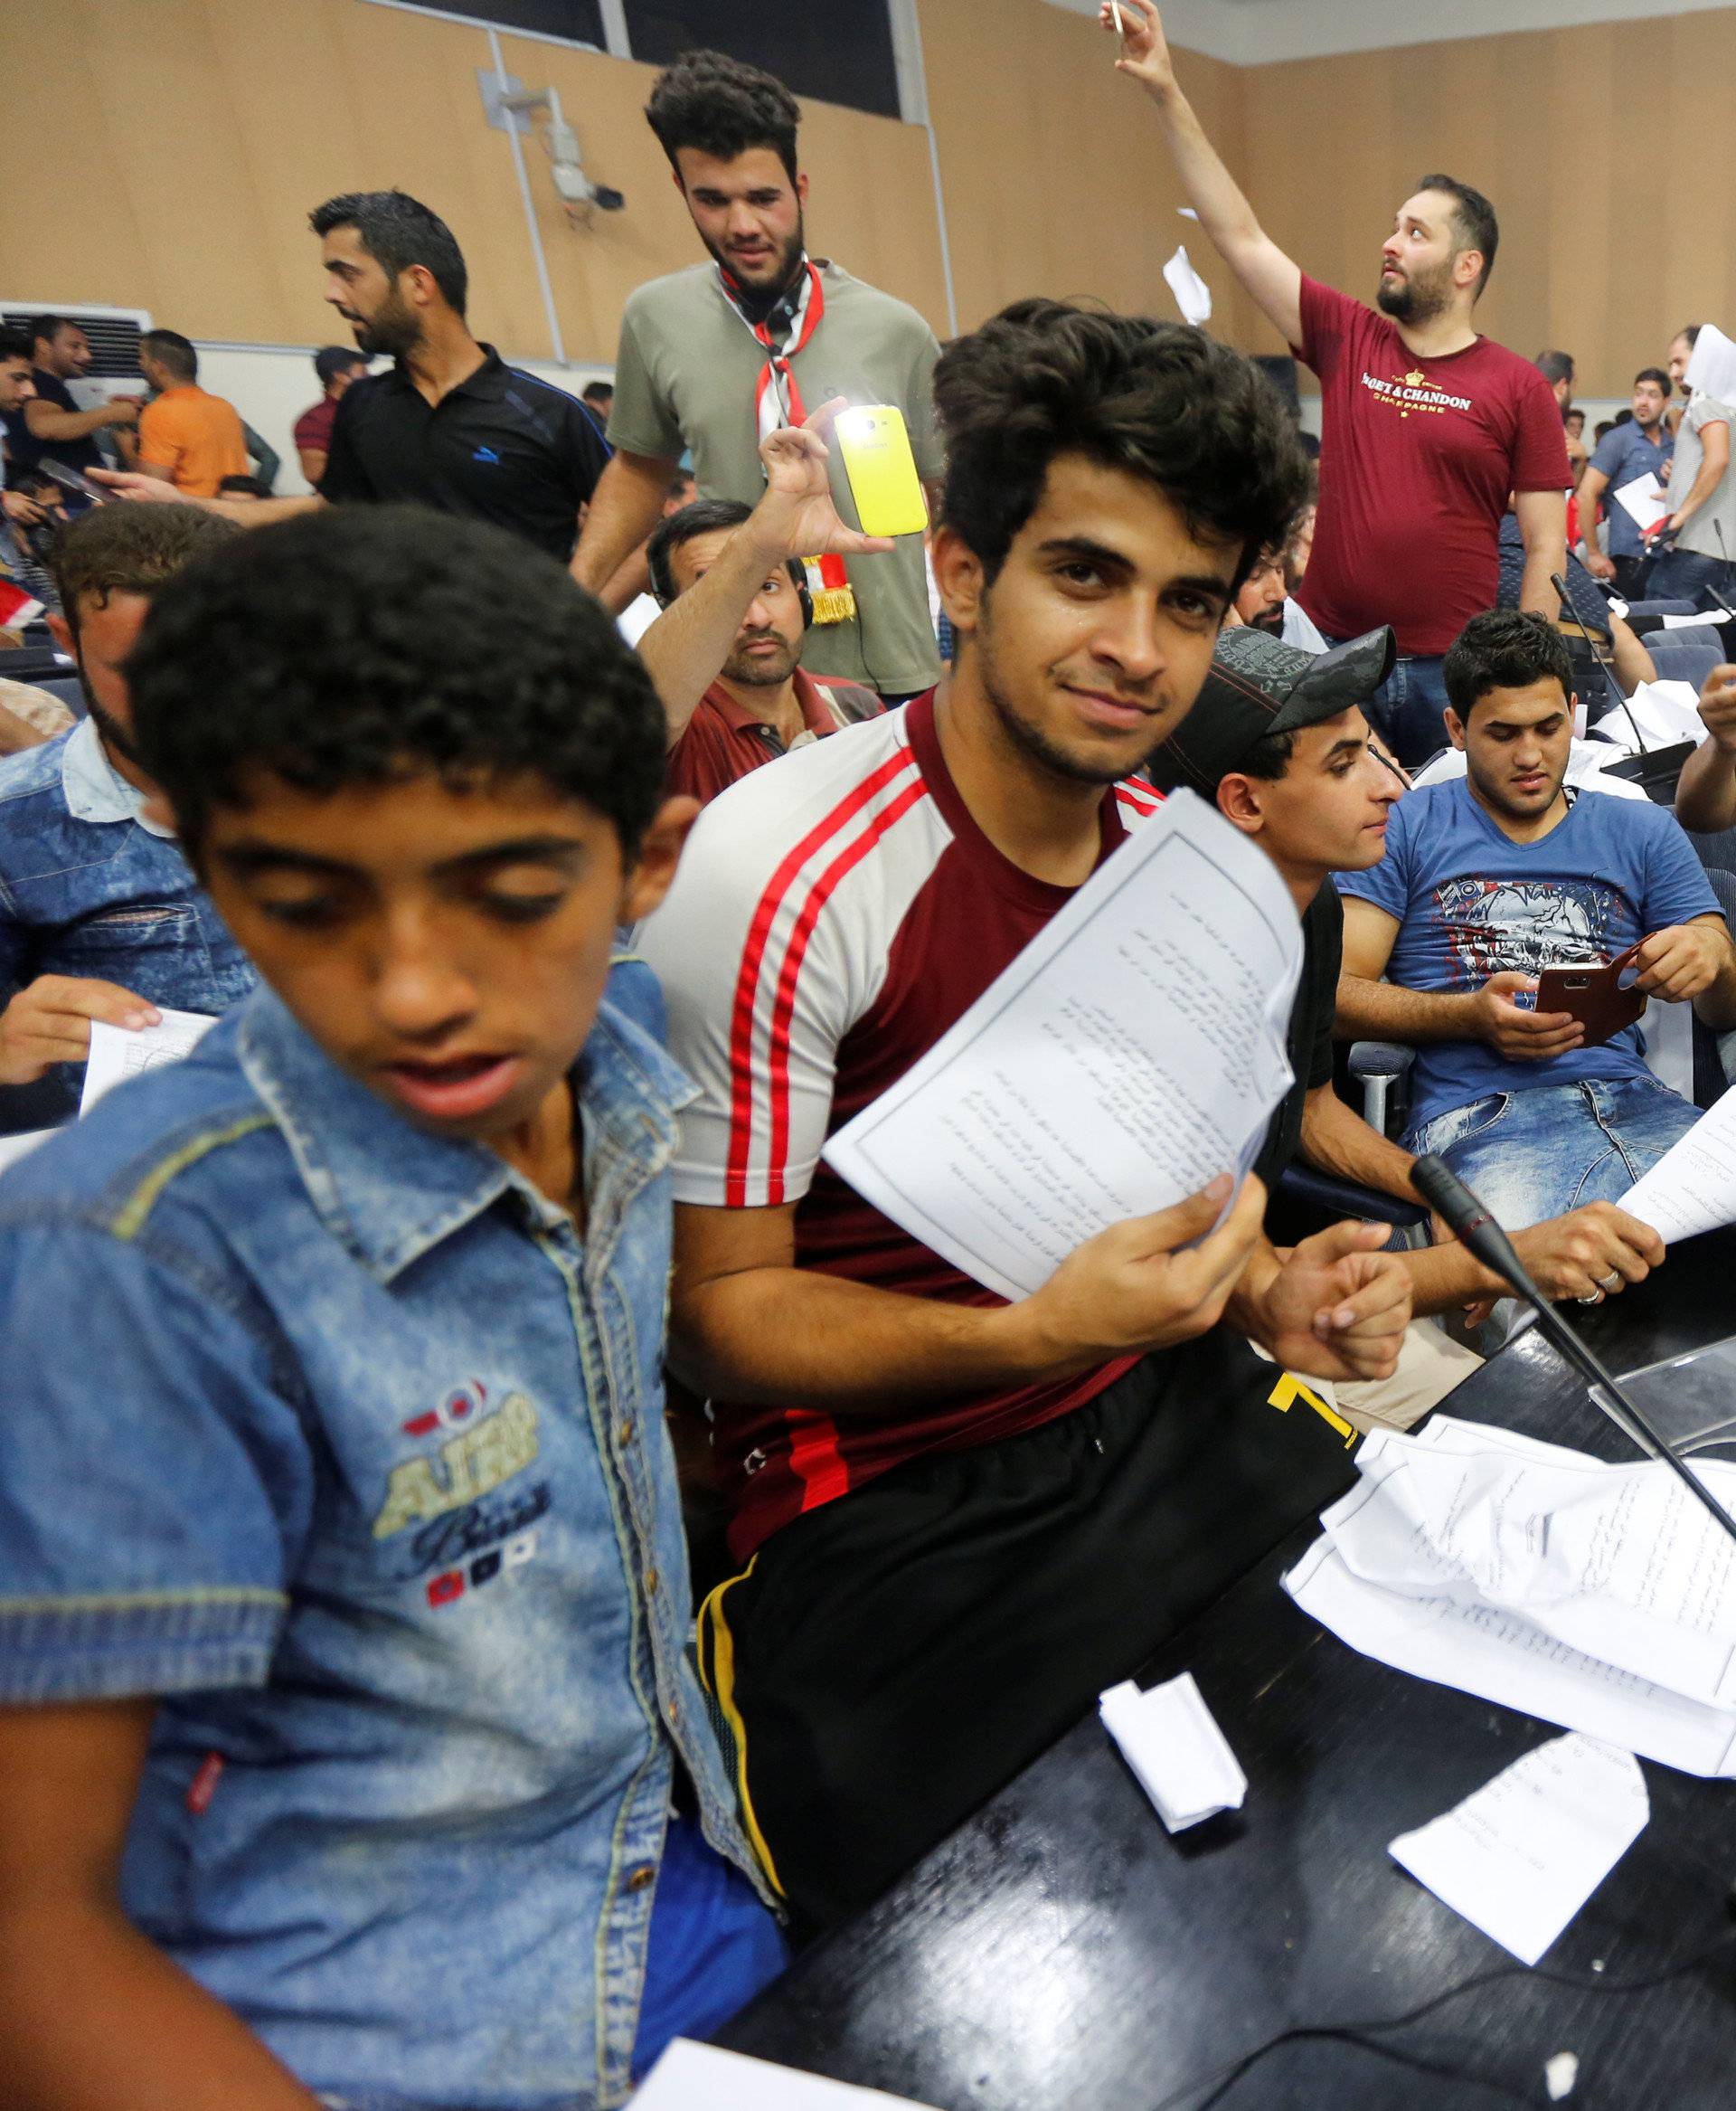
[[[1386, 973], [1407, 990], [1468, 992], [1491, 975], [1603, 965], [1639, 937], [1717, 914], [1694, 844], [1662, 806], [1586, 792], [1546, 836], [1512, 842], [1464, 777], [1407, 792], [1386, 823], [1386, 857], [1333, 878], [1399, 920]], [[1428, 1041], [1411, 1068], [1411, 1121], [1491, 1091], [1624, 1077], [1650, 1077], [1637, 1026], [1546, 1062]]]

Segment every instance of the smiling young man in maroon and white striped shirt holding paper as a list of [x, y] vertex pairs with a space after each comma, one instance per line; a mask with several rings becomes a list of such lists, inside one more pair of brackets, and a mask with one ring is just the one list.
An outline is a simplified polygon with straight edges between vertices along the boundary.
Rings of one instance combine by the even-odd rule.
[[1348, 1482], [1348, 1427], [1278, 1412], [1245, 1336], [1386, 1376], [1409, 1319], [1382, 1226], [1280, 1258], [1257, 1180], [1217, 1224], [1228, 1169], [1004, 1305], [821, 1163], [1156, 809], [1135, 773], [1306, 492], [1276, 393], [1181, 325], [1021, 302], [934, 403], [951, 673], [715, 800], [641, 935], [698, 1083], [671, 1355], [745, 1571], [702, 1666], [808, 1925]]

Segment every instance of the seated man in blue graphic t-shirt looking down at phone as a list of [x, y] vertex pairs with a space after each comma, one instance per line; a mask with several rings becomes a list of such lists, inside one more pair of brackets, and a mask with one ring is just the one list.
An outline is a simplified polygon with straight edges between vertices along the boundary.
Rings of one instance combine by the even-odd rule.
[[1571, 671], [1548, 623], [1472, 616], [1445, 682], [1466, 775], [1403, 798], [1386, 857], [1337, 874], [1337, 1030], [1415, 1043], [1405, 1146], [1534, 1224], [1618, 1201], [1698, 1119], [1645, 1068], [1637, 1026], [1586, 1047], [1569, 1013], [1538, 1013], [1542, 969], [1639, 944], [1635, 988], [1723, 1032], [1736, 946], [1673, 815], [1565, 785]]

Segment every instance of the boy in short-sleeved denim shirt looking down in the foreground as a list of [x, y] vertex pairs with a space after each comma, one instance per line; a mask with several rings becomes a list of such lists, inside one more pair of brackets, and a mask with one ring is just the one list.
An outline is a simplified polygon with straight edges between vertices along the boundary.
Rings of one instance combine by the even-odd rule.
[[394, 509], [188, 570], [129, 678], [266, 988], [0, 1180], [8, 2111], [618, 2105], [783, 1955], [662, 1427], [690, 1087], [605, 996], [660, 705]]

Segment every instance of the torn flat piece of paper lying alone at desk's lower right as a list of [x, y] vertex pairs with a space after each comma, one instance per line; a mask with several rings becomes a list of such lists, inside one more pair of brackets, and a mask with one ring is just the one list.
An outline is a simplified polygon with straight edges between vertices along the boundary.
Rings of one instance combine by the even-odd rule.
[[1388, 1847], [1417, 1883], [1534, 1965], [1652, 1815], [1633, 1752], [1578, 1731], [1527, 1752]]

